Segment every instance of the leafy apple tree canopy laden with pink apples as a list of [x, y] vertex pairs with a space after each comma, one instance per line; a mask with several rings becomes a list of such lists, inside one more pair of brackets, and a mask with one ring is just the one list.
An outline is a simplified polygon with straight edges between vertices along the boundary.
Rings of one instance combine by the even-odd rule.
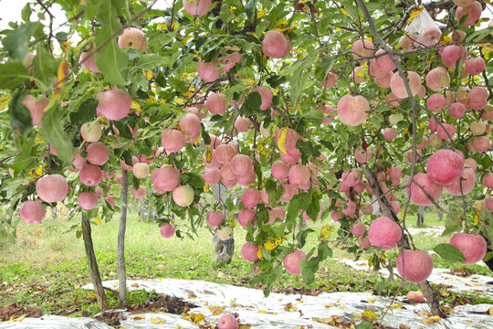
[[[82, 230], [118, 212], [124, 237], [130, 190], [156, 208], [163, 238], [197, 226], [245, 234], [238, 248], [267, 287], [283, 271], [312, 281], [334, 247], [373, 255], [373, 266], [397, 249], [391, 264], [443, 314], [426, 281], [433, 261], [414, 247], [406, 215], [444, 213], [451, 239], [435, 251], [447, 260], [487, 254], [491, 8], [155, 3], [38, 1], [2, 31], [10, 212], [36, 224], [63, 203], [82, 214]], [[37, 21], [53, 20], [48, 4], [66, 13], [61, 27]], [[318, 248], [304, 248], [308, 235]]]

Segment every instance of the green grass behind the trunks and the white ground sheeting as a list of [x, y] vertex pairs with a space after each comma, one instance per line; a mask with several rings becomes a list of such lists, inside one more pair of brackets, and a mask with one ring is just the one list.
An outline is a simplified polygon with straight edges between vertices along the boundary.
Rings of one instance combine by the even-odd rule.
[[[439, 225], [440, 222], [432, 215], [425, 215], [425, 223], [430, 218], [428, 225]], [[21, 223], [17, 228], [16, 240], [10, 239], [5, 242], [6, 240], [2, 239], [4, 245], [0, 246], [0, 307], [17, 302], [24, 307], [41, 309], [44, 313], [51, 314], [80, 316], [83, 313], [87, 315], [99, 312], [94, 294], [80, 289], [82, 285], [89, 283], [82, 239], [75, 237], [75, 231], [64, 233], [78, 223], [79, 218], [45, 219], [36, 226]], [[413, 223], [415, 218], [410, 217], [408, 225], [412, 227]], [[312, 225], [316, 231], [320, 231], [324, 224], [327, 222]], [[118, 225], [117, 217], [100, 226], [92, 225], [102, 280], [118, 278]], [[236, 228], [236, 249], [230, 264], [216, 264], [212, 261], [212, 233], [208, 229], [200, 228], [198, 236], [195, 239], [163, 239], [156, 224], [143, 222], [135, 214], [130, 214], [126, 234], [128, 278], [179, 278], [246, 285], [247, 277], [252, 275], [252, 269], [250, 263], [241, 258], [240, 253], [245, 242], [244, 228]], [[447, 242], [448, 239], [430, 239], [430, 236], [416, 235], [414, 243], [420, 249], [431, 249], [436, 243]], [[317, 234], [309, 235], [305, 249], [316, 245]], [[343, 249], [334, 249], [334, 257], [353, 258]], [[363, 254], [362, 260], [369, 257]], [[484, 275], [491, 274], [488, 269], [478, 265], [451, 264], [435, 255], [433, 257], [436, 267], [466, 268]], [[160, 264], [164, 266], [163, 271], [157, 270], [157, 265]], [[378, 291], [390, 295], [399, 291], [400, 284], [401, 281], [384, 281], [373, 271], [354, 271], [337, 260], [326, 260], [321, 264], [313, 284], [306, 286], [300, 276], [285, 273], [274, 288], [282, 290], [307, 287], [329, 292]], [[416, 289], [416, 285], [404, 283], [401, 293]], [[142, 293], [147, 295], [145, 292], [132, 292], [129, 298], [138, 302], [142, 299]], [[110, 305], [116, 304], [110, 293], [108, 296]], [[454, 294], [444, 298], [451, 298], [450, 296], [453, 297]], [[473, 301], [479, 301], [477, 298], [471, 296]]]

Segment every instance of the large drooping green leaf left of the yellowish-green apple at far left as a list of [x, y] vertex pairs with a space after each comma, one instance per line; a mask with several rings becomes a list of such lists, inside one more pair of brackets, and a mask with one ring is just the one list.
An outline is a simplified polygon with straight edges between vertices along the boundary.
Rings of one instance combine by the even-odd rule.
[[43, 137], [47, 143], [53, 145], [60, 160], [67, 164], [71, 164], [74, 149], [71, 142], [72, 139], [64, 132], [60, 124], [62, 116], [58, 104], [53, 105], [45, 112], [45, 114], [43, 114], [43, 117], [41, 118]]

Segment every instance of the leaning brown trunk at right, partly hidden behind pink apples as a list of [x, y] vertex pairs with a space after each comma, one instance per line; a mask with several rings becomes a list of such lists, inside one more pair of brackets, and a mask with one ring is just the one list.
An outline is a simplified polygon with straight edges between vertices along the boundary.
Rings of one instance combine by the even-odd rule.
[[[395, 222], [399, 222], [399, 219], [393, 212], [392, 207], [390, 207], [387, 198], [383, 196], [383, 191], [380, 185], [378, 184], [376, 175], [372, 172], [372, 170], [368, 167], [368, 165], [365, 166], [365, 176], [366, 179], [368, 179], [370, 186], [372, 186], [373, 196], [378, 198], [381, 214], [383, 214], [383, 216], [391, 218]], [[410, 249], [409, 241], [407, 240], [405, 235], [403, 235], [403, 239], [399, 241], [398, 246], [399, 248]], [[418, 285], [419, 288], [421, 289], [421, 292], [423, 292], [423, 295], [425, 295], [426, 302], [428, 303], [431, 312], [434, 315], [438, 315], [442, 318], [445, 318], [446, 313], [444, 312], [442, 305], [440, 305], [440, 302], [438, 301], [435, 292], [430, 286], [430, 283], [428, 281], [423, 281], [421, 283], [418, 283]]]

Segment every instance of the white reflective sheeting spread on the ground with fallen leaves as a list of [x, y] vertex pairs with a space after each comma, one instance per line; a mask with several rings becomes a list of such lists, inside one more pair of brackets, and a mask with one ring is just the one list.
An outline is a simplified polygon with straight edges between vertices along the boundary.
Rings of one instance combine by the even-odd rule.
[[[118, 288], [118, 281], [105, 281], [103, 284], [112, 289]], [[240, 324], [250, 324], [252, 328], [336, 328], [330, 324], [321, 324], [321, 321], [330, 319], [333, 315], [340, 315], [341, 320], [351, 321], [361, 317], [365, 311], [382, 314], [392, 299], [372, 295], [367, 292], [322, 292], [319, 296], [301, 296], [299, 294], [284, 295], [271, 293], [264, 298], [262, 291], [227, 284], [217, 284], [206, 281], [187, 281], [177, 279], [139, 280], [128, 281], [131, 290], [145, 289], [157, 293], [183, 298], [199, 307], [190, 310], [192, 313], [202, 313], [205, 321], [215, 324], [219, 315], [213, 314], [214, 306], [223, 307], [222, 313], [239, 314]], [[90, 289], [87, 285], [84, 288]], [[383, 324], [399, 328], [405, 324], [409, 328], [493, 328], [493, 316], [470, 313], [488, 311], [493, 305], [466, 305], [457, 306], [448, 319], [436, 324], [424, 324], [423, 319], [429, 315], [422, 315], [428, 310], [425, 303], [407, 304], [400, 298], [393, 303], [393, 307], [385, 316]], [[290, 303], [290, 304], [289, 304]], [[288, 311], [287, 311], [288, 310]], [[421, 313], [418, 313], [420, 312]], [[198, 325], [185, 321], [179, 315], [168, 313], [125, 313], [127, 320], [121, 322], [120, 328], [198, 328]], [[357, 320], [358, 323], [358, 320]], [[56, 328], [56, 329], [106, 329], [106, 324], [98, 323], [88, 318], [65, 318], [59, 316], [44, 316], [40, 319], [26, 318], [21, 322], [0, 323], [0, 328]]]

